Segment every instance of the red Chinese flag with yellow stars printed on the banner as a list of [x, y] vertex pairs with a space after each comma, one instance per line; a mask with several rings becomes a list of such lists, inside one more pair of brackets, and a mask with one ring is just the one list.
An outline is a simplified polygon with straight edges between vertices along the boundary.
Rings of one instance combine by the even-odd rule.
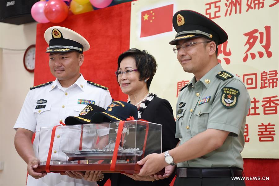
[[172, 31], [173, 4], [141, 12], [140, 37]]

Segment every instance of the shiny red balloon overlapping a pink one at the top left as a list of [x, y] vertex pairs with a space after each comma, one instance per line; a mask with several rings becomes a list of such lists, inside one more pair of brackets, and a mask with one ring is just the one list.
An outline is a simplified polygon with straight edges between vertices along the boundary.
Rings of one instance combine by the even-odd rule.
[[52, 23], [60, 23], [68, 16], [69, 9], [64, 1], [49, 0], [45, 7], [44, 13], [48, 20]]

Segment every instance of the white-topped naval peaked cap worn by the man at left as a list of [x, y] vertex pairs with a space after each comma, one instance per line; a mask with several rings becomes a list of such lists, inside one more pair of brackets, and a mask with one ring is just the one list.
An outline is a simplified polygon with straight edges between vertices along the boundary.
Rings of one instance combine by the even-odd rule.
[[78, 51], [83, 53], [90, 48], [89, 42], [75, 31], [61, 27], [53, 26], [45, 31], [45, 40], [49, 47], [46, 53], [50, 52], [70, 52]]

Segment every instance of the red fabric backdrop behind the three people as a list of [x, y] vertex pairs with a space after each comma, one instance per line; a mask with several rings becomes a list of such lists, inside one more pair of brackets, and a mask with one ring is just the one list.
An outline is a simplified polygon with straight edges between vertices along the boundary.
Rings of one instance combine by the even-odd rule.
[[[109, 87], [114, 100], [127, 100], [117, 84], [114, 71], [117, 57], [129, 49], [131, 2], [99, 9], [79, 15], [71, 15], [60, 24], [38, 24], [36, 37], [36, 62], [34, 85], [53, 81], [48, 67], [48, 47], [44, 32], [51, 26], [64, 26], [80, 33], [90, 43], [90, 50], [84, 52], [85, 61], [81, 67], [84, 78]], [[244, 159], [245, 176], [269, 177], [267, 181], [246, 181], [247, 186], [278, 186], [279, 159]], [[106, 185], [110, 185], [108, 181]], [[173, 182], [172, 184], [173, 185]]]

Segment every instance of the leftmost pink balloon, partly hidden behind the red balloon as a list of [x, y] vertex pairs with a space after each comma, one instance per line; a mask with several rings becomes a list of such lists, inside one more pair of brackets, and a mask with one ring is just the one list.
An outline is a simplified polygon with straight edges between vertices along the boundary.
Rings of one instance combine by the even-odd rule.
[[38, 1], [35, 4], [33, 4], [31, 8], [31, 15], [33, 19], [39, 23], [48, 23], [49, 20], [46, 18], [44, 14], [44, 7], [46, 1]]

